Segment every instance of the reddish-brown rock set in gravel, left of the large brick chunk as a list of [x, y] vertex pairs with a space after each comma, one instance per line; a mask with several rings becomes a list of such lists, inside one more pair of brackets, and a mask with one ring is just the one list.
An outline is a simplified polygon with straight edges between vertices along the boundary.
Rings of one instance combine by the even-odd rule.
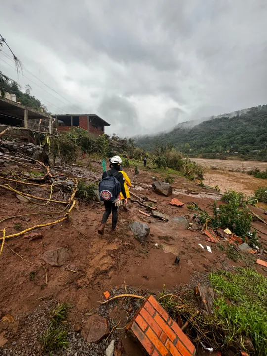
[[107, 320], [100, 315], [92, 315], [84, 322], [81, 332], [88, 343], [99, 342], [109, 334]]

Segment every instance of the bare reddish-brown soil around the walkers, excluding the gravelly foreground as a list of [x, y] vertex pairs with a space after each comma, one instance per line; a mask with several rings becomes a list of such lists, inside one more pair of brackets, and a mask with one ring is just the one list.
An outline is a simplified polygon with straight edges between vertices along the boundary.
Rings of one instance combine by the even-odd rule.
[[[128, 169], [129, 170], [129, 169]], [[126, 169], [126, 172], [128, 171]], [[89, 171], [84, 170], [85, 176]], [[101, 174], [101, 167], [94, 164], [94, 174]], [[151, 186], [151, 177], [160, 178], [153, 171], [140, 171], [135, 182]], [[129, 173], [133, 179], [134, 172]], [[184, 178], [174, 176], [173, 186], [176, 188], [187, 188], [194, 191], [211, 194], [213, 191], [200, 188], [193, 182]], [[18, 188], [22, 190], [21, 187]], [[25, 188], [24, 188], [24, 191]], [[214, 200], [211, 198], [199, 198], [187, 195], [172, 195], [164, 197], [155, 194], [151, 188], [144, 190], [132, 190], [139, 196], [147, 196], [157, 200], [158, 211], [169, 217], [190, 214], [187, 204], [191, 201], [197, 203], [202, 209], [212, 212]], [[130, 190], [131, 193], [131, 190]], [[49, 191], [39, 188], [30, 189], [30, 194], [49, 196]], [[60, 199], [55, 193], [53, 199]], [[184, 202], [182, 208], [171, 206], [172, 198], [177, 197]], [[9, 216], [30, 214], [36, 212], [60, 211], [63, 205], [50, 203], [39, 206], [20, 202], [14, 193], [0, 190], [0, 220]], [[107, 223], [104, 236], [99, 236], [97, 229], [102, 217], [103, 207], [96, 202], [88, 205], [80, 204], [71, 213], [71, 219], [50, 227], [40, 228], [38, 231], [43, 235], [42, 239], [30, 241], [23, 236], [8, 239], [4, 245], [0, 257], [0, 314], [12, 314], [19, 316], [23, 312], [32, 312], [40, 303], [42, 298], [55, 299], [68, 302], [74, 306], [70, 320], [72, 324], [81, 323], [85, 313], [91, 308], [99, 305], [103, 300], [103, 292], [111, 290], [114, 286], [134, 287], [135, 289], [158, 293], [163, 289], [172, 289], [177, 285], [189, 283], [192, 273], [209, 272], [216, 268], [227, 268], [230, 266], [245, 266], [244, 262], [235, 263], [228, 259], [216, 244], [205, 241], [200, 231], [174, 230], [167, 222], [156, 218], [146, 217], [138, 211], [145, 208], [130, 202], [128, 212], [119, 211], [118, 228], [115, 234], [111, 234], [111, 219]], [[262, 210], [253, 208], [257, 214]], [[16, 233], [15, 223], [20, 223], [22, 228], [30, 227], [40, 223], [48, 223], [56, 220], [61, 214], [54, 215], [32, 215], [31, 220], [25, 222], [14, 218], [2, 222], [0, 228], [9, 227], [7, 234]], [[129, 231], [128, 225], [131, 221], [138, 220], [147, 223], [151, 233], [145, 246], [142, 246]], [[263, 242], [267, 244], [267, 225], [253, 222], [253, 225], [263, 233], [259, 233]], [[162, 236], [170, 236], [169, 241]], [[179, 265], [174, 265], [175, 255], [164, 253], [162, 248], [156, 248], [155, 244], [164, 243], [178, 248], [180, 257]], [[209, 245], [212, 253], [203, 250], [198, 245]], [[224, 242], [223, 242], [224, 243]], [[45, 267], [48, 277], [48, 285], [45, 285], [45, 269], [27, 263], [15, 255], [10, 246], [23, 259], [40, 267]], [[226, 245], [225, 245], [226, 246]], [[65, 247], [70, 258], [66, 266], [52, 267], [40, 259], [41, 255], [51, 249]], [[261, 258], [261, 257], [260, 257]], [[263, 255], [262, 259], [266, 259]], [[264, 267], [257, 267], [264, 272]], [[71, 271], [76, 270], [76, 273]], [[34, 280], [31, 280], [30, 272], [36, 271]], [[124, 326], [124, 325], [123, 325]], [[126, 346], [127, 347], [127, 346]], [[129, 347], [128, 355], [137, 355]]]

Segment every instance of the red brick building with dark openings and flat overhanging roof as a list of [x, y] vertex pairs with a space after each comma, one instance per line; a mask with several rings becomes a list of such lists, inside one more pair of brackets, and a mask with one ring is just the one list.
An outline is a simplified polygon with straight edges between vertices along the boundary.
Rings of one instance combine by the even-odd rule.
[[110, 126], [109, 123], [95, 114], [65, 114], [52, 116], [55, 118], [58, 131], [69, 131], [72, 128], [79, 127], [87, 130], [89, 136], [94, 138], [105, 133], [105, 126]]

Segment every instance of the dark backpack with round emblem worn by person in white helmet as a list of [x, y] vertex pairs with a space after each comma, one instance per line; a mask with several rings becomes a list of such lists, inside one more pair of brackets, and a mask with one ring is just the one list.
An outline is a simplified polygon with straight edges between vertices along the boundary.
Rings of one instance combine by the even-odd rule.
[[100, 200], [113, 202], [122, 190], [121, 183], [116, 178], [119, 172], [112, 174], [106, 171], [106, 173], [107, 176], [99, 182]]

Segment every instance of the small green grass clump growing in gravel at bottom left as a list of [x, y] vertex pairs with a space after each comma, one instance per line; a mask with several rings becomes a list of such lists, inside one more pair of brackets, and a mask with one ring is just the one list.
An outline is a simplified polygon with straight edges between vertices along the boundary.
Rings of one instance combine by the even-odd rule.
[[41, 337], [43, 351], [52, 355], [56, 350], [66, 349], [68, 346], [65, 322], [69, 305], [66, 303], [58, 304], [51, 311], [51, 323], [45, 334]]

